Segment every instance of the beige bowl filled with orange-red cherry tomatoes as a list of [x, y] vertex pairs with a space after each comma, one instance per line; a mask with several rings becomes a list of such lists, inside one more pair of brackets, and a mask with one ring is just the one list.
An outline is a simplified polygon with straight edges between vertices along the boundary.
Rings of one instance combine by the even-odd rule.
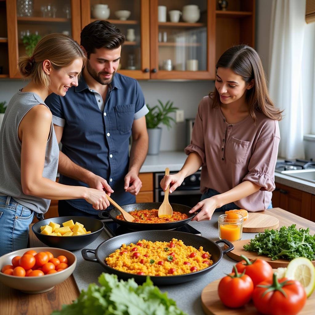
[[0, 282], [25, 293], [43, 293], [65, 281], [76, 265], [76, 256], [66, 249], [19, 249], [0, 257]]

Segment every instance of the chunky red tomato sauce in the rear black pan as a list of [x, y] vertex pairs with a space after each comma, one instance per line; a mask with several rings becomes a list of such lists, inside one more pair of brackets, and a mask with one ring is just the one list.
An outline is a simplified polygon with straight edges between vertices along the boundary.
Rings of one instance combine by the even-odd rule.
[[[158, 209], [152, 209], [152, 210], [139, 210], [139, 211], [131, 211], [129, 212], [130, 215], [132, 215], [135, 218], [136, 223], [169, 223], [169, 222], [175, 222], [180, 220], [188, 219], [188, 215], [185, 213], [181, 213], [178, 211], [173, 211], [173, 215], [170, 218], [159, 218], [158, 215]], [[124, 220], [123, 215], [117, 215], [116, 219], [118, 220]]]

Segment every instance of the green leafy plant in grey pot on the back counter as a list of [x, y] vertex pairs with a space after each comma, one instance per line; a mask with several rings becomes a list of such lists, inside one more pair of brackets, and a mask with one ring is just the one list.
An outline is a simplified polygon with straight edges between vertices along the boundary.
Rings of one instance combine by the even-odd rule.
[[158, 154], [160, 151], [162, 128], [160, 124], [164, 124], [167, 128], [171, 128], [171, 122], [175, 119], [170, 116], [178, 107], [173, 106], [173, 102], [168, 100], [164, 105], [161, 100], [157, 100], [158, 104], [152, 108], [146, 105], [149, 112], [146, 114], [146, 128], [149, 135], [149, 149], [148, 154]]

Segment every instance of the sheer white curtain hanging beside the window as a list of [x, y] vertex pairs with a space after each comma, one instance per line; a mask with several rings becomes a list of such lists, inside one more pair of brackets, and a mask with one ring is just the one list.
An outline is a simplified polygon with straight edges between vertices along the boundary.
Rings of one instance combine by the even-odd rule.
[[284, 109], [279, 123], [279, 156], [304, 158], [302, 60], [306, 0], [275, 0], [272, 8], [269, 92], [276, 107]]

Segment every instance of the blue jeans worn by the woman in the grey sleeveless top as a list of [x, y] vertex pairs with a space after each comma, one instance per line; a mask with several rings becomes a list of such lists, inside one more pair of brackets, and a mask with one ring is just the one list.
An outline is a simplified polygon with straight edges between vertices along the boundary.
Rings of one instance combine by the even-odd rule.
[[27, 247], [34, 213], [12, 197], [0, 196], [0, 256]]

